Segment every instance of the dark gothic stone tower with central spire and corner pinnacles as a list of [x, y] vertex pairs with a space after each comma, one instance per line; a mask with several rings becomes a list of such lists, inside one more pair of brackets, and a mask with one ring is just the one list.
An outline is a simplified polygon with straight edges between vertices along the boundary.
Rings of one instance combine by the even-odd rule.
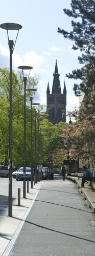
[[49, 82], [47, 83], [47, 107], [49, 108], [48, 120], [53, 124], [60, 121], [66, 122], [66, 87], [64, 82], [63, 94], [61, 94], [60, 80], [57, 67], [55, 65], [55, 73], [53, 74], [52, 94], [50, 94]]

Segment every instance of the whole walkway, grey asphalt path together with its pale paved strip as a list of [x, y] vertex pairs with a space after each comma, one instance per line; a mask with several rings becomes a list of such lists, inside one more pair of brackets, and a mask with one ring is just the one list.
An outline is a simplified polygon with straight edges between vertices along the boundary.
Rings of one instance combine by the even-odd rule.
[[[27, 198], [22, 199], [23, 206], [13, 201], [13, 218], [7, 217], [7, 210], [0, 215], [0, 256], [95, 254], [94, 214], [76, 184], [55, 176], [37, 183]], [[5, 248], [10, 243], [3, 253], [5, 242]]]

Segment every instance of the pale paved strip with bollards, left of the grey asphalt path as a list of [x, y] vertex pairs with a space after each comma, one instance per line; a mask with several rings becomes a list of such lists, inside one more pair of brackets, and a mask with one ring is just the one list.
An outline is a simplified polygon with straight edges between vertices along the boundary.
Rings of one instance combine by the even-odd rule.
[[[8, 207], [0, 214], [0, 256], [3, 255], [5, 249], [12, 241], [13, 235], [27, 210], [30, 207], [37, 191], [44, 181], [40, 181], [35, 185], [35, 188], [29, 188], [29, 193], [26, 192], [26, 198], [23, 198], [23, 193], [20, 195], [20, 206], [18, 206], [18, 198], [14, 199], [12, 206], [12, 217], [8, 217]], [[7, 254], [6, 254], [7, 255]]]

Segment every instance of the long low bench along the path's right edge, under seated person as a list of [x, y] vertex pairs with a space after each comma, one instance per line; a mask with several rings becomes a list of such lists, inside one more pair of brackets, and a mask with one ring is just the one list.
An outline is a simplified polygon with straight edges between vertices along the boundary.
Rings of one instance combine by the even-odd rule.
[[81, 189], [81, 193], [84, 195], [84, 199], [87, 200], [89, 204], [89, 208], [93, 210], [95, 213], [95, 193], [93, 189], [95, 189], [95, 184], [94, 182], [91, 181], [93, 189], [90, 187], [90, 181], [87, 181], [88, 185], [85, 184], [85, 187], [80, 187], [81, 186], [81, 179], [78, 180], [77, 177], [72, 177], [72, 176], [67, 176], [67, 179], [72, 180], [78, 185], [78, 188]]

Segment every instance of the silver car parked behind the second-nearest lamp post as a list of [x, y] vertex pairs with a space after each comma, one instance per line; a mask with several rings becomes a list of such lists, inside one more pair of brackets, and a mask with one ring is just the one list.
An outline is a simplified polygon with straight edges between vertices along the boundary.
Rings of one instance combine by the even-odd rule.
[[[33, 171], [33, 179], [34, 179], [34, 171]], [[20, 167], [17, 174], [16, 180], [23, 180], [23, 167]], [[31, 180], [31, 168], [26, 167], [26, 180]]]

